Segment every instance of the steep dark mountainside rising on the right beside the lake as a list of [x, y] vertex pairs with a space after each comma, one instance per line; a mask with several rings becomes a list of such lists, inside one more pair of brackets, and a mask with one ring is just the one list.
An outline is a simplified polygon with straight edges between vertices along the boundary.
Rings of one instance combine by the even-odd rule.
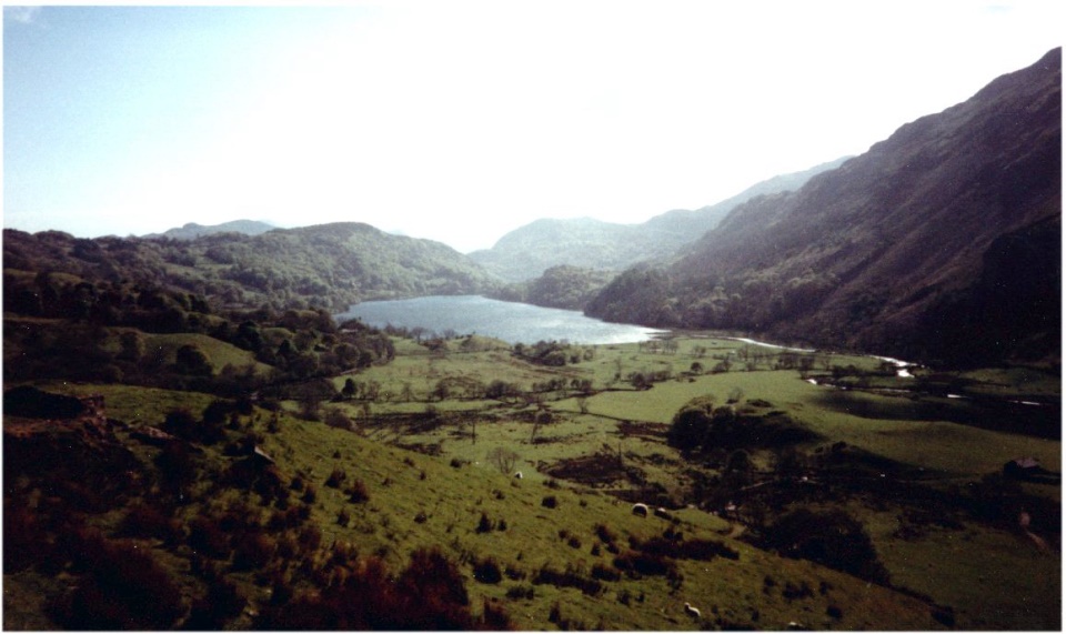
[[1062, 50], [798, 191], [755, 198], [589, 314], [953, 363], [1060, 340]]

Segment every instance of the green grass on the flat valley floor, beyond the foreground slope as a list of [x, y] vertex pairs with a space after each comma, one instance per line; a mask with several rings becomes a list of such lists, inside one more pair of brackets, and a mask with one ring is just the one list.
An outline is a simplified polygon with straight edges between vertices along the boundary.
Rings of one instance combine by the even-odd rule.
[[[695, 356], [692, 352], [695, 345], [706, 345], [708, 348], [706, 356]], [[808, 450], [843, 441], [909, 467], [925, 470], [928, 482], [934, 486], [965, 483], [979, 480], [986, 474], [998, 473], [1006, 461], [1019, 455], [1036, 455], [1047, 469], [1060, 470], [1058, 441], [996, 432], [943, 420], [908, 420], [907, 413], [917, 415], [919, 409], [899, 395], [851, 392], [848, 394], [852, 397], [865, 403], [861, 412], [865, 415], [857, 415], [846, 409], [827, 406], [826, 394], [835, 389], [811, 384], [804, 381], [801, 373], [795, 370], [770, 370], [770, 365], [763, 364], [755, 371], [747, 371], [744, 365], [735, 364], [730, 372], [695, 376], [684, 374], [694, 360], [701, 361], [705, 368], [708, 368], [715, 356], [735, 351], [738, 345], [736, 342], [724, 340], [711, 340], [710, 344], [706, 339], [683, 340], [678, 352], [670, 355], [642, 352], [636, 344], [597, 348], [592, 361], [567, 366], [566, 376], [589, 378], [593, 380], [596, 389], [613, 386], [614, 390], [600, 392], [584, 400], [587, 414], [580, 413], [582, 403], [575, 396], [553, 400], [554, 396], [547, 395], [545, 405], [559, 422], [540, 427], [537, 435], [541, 439], [552, 439], [553, 442], [550, 443], [531, 444], [532, 424], [509, 420], [505, 414], [497, 422], [480, 423], [476, 443], [471, 442], [469, 434], [463, 433], [469, 432], [469, 423], [463, 423], [462, 417], [436, 432], [405, 437], [403, 441], [439, 443], [444, 457], [470, 461], [469, 469], [472, 471], [481, 469], [490, 473], [493, 467], [486, 464], [489, 452], [495, 447], [513, 450], [520, 454], [519, 466], [526, 474], [524, 486], [530, 482], [546, 480], [543, 473], [531, 473], [531, 470], [544, 469], [561, 459], [617, 451], [621, 444], [625, 459], [638, 465], [648, 481], [663, 484], [668, 492], [676, 492], [678, 491], [677, 464], [680, 462], [671, 461], [680, 461], [677, 453], [660, 442], [646, 439], [623, 440], [622, 434], [619, 433], [619, 421], [670, 423], [677, 410], [695, 396], [711, 394], [716, 403], [724, 404], [731, 395], [740, 394], [742, 395], [741, 405], [754, 400], [767, 401], [772, 409], [786, 412], [795, 421], [819, 434], [823, 440], [808, 445]], [[881, 362], [872, 359], [832, 355], [817, 361], [815, 372], [824, 371], [832, 365], [855, 365], [865, 370], [877, 370]], [[624, 381], [619, 382], [614, 379], [620, 369], [623, 376], [627, 372], [668, 370], [675, 378], [656, 383], [651, 390], [635, 391]], [[445, 359], [432, 361], [429, 365], [425, 363], [425, 355], [420, 354], [418, 358], [401, 356], [389, 366], [368, 372], [366, 376], [374, 376], [384, 385], [391, 385], [398, 381], [425, 376], [428, 373], [433, 373], [435, 379], [467, 375], [480, 380], [506, 376], [521, 381], [521, 378], [532, 380], [533, 376], [544, 376], [549, 371], [524, 366], [503, 353], [449, 355]], [[1002, 384], [1003, 374], [999, 371], [988, 374], [972, 373], [971, 379]], [[1025, 391], [1032, 390], [1038, 381], [1016, 380], [1015, 383], [1017, 390]], [[1039, 384], [1043, 385], [1043, 390], [1049, 391], [1046, 382]], [[914, 385], [915, 380], [911, 379], [885, 378], [872, 382], [872, 386], [912, 388]], [[1003, 390], [1002, 385], [997, 389]], [[445, 401], [433, 405], [442, 412], [474, 413], [494, 404], [496, 403]], [[406, 404], [406, 406], [410, 405]], [[383, 411], [400, 411], [404, 405], [386, 403], [380, 406]], [[424, 404], [414, 406], [424, 406]], [[878, 411], [891, 413], [892, 416], [869, 415], [869, 412]], [[375, 437], [391, 436], [382, 434]], [[650, 460], [653, 455], [666, 457], [667, 463], [653, 464]], [[765, 465], [765, 460], [756, 462]], [[1058, 500], [1060, 495], [1058, 487], [1047, 486], [1040, 487], [1039, 494], [1053, 500]], [[876, 521], [869, 521], [874, 526], [881, 526]], [[878, 549], [884, 553], [885, 564], [889, 567], [893, 578], [897, 580], [902, 586], [928, 594], [941, 604], [954, 606], [959, 623], [979, 627], [995, 627], [998, 626], [995, 625], [997, 623], [1007, 623], [1010, 626], [1039, 623], [1039, 618], [1026, 622], [1018, 617], [996, 616], [983, 620], [976, 616], [982, 610], [983, 593], [989, 592], [987, 586], [983, 591], [975, 590], [982, 587], [980, 580], [990, 580], [997, 574], [1003, 574], [1004, 567], [1010, 565], [1010, 562], [1028, 561], [1027, 557], [1030, 554], [1016, 551], [1015, 547], [1018, 544], [1010, 541], [1014, 540], [1013, 535], [1004, 539], [1004, 535], [995, 530], [975, 526], [968, 530], [974, 536], [959, 544], [955, 541], [957, 536], [934, 535], [917, 542], [903, 542], [893, 539], [891, 531], [885, 532], [881, 529], [876, 531], [874, 536], [878, 542]], [[996, 555], [978, 556], [986, 547], [992, 549], [990, 552]], [[965, 558], [967, 564], [955, 568], [941, 566], [945, 572], [932, 576], [924, 574], [925, 571], [921, 570], [929, 562], [934, 562], [936, 567], [938, 564], [935, 562], [957, 558]], [[957, 578], [954, 584], [946, 583], [946, 576], [951, 574], [947, 572], [949, 570], [956, 570]], [[1057, 575], [1054, 565], [1050, 567], [1045, 565], [1040, 570], [1044, 574]], [[1008, 594], [1010, 596], [1000, 597], [995, 603], [1000, 606], [997, 610], [1002, 610], [1004, 614], [1012, 606], [1016, 607], [1018, 601], [1037, 601], [1042, 605], [1049, 603], [1057, 605], [1052, 601], [1054, 593], [1036, 592], [1033, 584], [1012, 584]]]

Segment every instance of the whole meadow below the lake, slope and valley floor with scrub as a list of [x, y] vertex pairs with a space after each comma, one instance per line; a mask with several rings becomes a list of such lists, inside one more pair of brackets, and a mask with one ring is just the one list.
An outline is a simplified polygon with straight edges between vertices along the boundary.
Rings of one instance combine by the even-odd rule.
[[[215, 371], [249, 362], [229, 346], [192, 343]], [[924, 405], [934, 401], [974, 406], [929, 392], [931, 371], [899, 378], [872, 358], [704, 333], [560, 344], [551, 350], [565, 362], [551, 365], [485, 338], [393, 344], [388, 363], [332, 378], [333, 399], [245, 403], [222, 417], [208, 414], [217, 399], [198, 392], [41, 384], [103, 395], [115, 436], [160, 470], [121, 505], [101, 502], [80, 531], [132, 534], [182, 593], [207, 587], [197, 601], [221, 595], [242, 606], [215, 614], [193, 601], [189, 620], [207, 628], [308, 627], [293, 620], [342, 614], [331, 593], [376, 565], [413, 568], [423, 549], [457, 566], [463, 610], [493, 628], [1059, 626], [1059, 486], [1000, 474], [1022, 455], [1058, 472], [1059, 440], [901, 416], [943, 412]], [[959, 395], [1055, 402], [1038, 374], [1014, 373], [1012, 383], [1002, 371], [959, 373], [952, 384]], [[755, 435], [727, 447], [672, 446], [678, 412], [694, 400]], [[181, 427], [175, 411], [223, 426], [214, 440], [197, 435], [204, 432]], [[172, 447], [135, 441], [149, 426], [201, 439], [180, 482], [168, 480]], [[172, 500], [167, 520], [143, 520], [160, 499]], [[634, 514], [636, 502], [655, 512]], [[1019, 504], [1030, 526], [1018, 525]], [[768, 545], [797, 510], [844, 513], [839, 525], [869, 545], [863, 556], [877, 576]], [[16, 532], [23, 539], [37, 544]], [[6, 626], [54, 625], [31, 598], [62, 594], [60, 578], [6, 568]], [[701, 615], [686, 614], [685, 602]], [[73, 610], [49, 605], [60, 621]]]

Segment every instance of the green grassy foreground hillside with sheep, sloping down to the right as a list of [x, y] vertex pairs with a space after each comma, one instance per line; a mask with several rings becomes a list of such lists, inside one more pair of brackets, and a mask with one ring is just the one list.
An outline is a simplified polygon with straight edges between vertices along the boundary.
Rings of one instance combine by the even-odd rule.
[[[587, 422], [566, 425], [571, 427], [553, 430], [553, 433], [579, 433]], [[549, 487], [543, 479], [515, 480], [500, 473], [486, 462], [485, 453], [497, 443], [510, 444], [509, 434], [519, 431], [525, 430], [509, 430], [507, 423], [482, 425], [476, 444], [469, 440], [445, 441], [450, 447], [449, 456], [474, 460], [460, 467], [451, 466], [449, 456], [425, 456], [319, 423], [290, 419], [283, 421], [281, 432], [268, 436], [266, 449], [284, 461], [286, 470], [308, 473], [310, 480], [319, 484], [315, 519], [323, 526], [324, 543], [333, 540], [351, 542], [360, 552], [381, 554], [393, 565], [400, 565], [420, 544], [440, 544], [449, 556], [459, 561], [493, 557], [501, 567], [510, 566], [525, 575], [517, 581], [505, 577], [497, 585], [474, 581], [467, 584], [473, 605], [480, 605], [481, 597], [503, 602], [521, 630], [552, 627], [547, 616], [556, 602], [562, 606], [564, 617], [580, 620], [589, 627], [694, 628], [698, 624], [686, 618], [682, 610], [686, 600], [704, 605], [705, 614], [716, 606], [734, 623], [768, 628], [783, 627], [796, 618], [797, 611], [819, 617], [834, 601], [848, 606], [844, 621], [838, 624], [841, 627], [935, 627], [919, 602], [881, 587], [865, 587], [846, 575], [805, 562], [778, 560], [727, 540], [722, 536], [728, 530], [727, 523], [694, 510], [677, 513], [678, 527], [690, 539], [725, 540], [740, 551], [741, 558], [738, 562], [722, 558], [678, 562], [684, 575], [680, 594], [672, 593], [662, 577], [604, 583], [604, 593], [596, 597], [585, 596], [574, 588], [532, 585], [533, 576], [544, 565], [557, 570], [573, 566], [584, 574], [597, 563], [610, 566], [610, 554], [591, 553], [596, 543], [594, 527], [597, 523], [611, 526], [623, 545], [628, 535], [647, 539], [657, 535], [668, 524], [657, 517], [635, 516], [628, 504], [603, 494], [580, 493], [565, 483], [557, 489]], [[536, 460], [542, 450], [544, 457], [555, 457], [562, 449], [562, 445], [554, 444], [537, 445], [530, 449], [523, 460]], [[335, 452], [340, 457], [334, 457]], [[363, 481], [370, 501], [353, 505], [342, 493], [322, 486], [334, 467], [344, 470], [349, 480]], [[547, 496], [556, 499], [556, 507], [542, 505]], [[342, 509], [352, 512], [352, 523], [348, 527], [341, 527], [334, 521]], [[424, 523], [414, 521], [419, 513], [426, 515]], [[477, 533], [482, 513], [495, 524], [506, 522], [506, 530]], [[567, 539], [561, 537], [560, 532], [564, 532]], [[580, 547], [572, 547], [569, 537], [576, 537]], [[834, 590], [826, 596], [815, 592], [815, 596], [796, 602], [781, 596], [767, 597], [762, 592], [766, 575], [773, 575], [781, 585], [790, 581], [797, 585], [806, 582], [814, 588], [826, 581]], [[507, 590], [516, 586], [532, 586], [533, 598], [506, 598]], [[625, 592], [633, 597], [628, 606], [619, 603]], [[642, 593], [644, 601], [637, 603], [636, 596]], [[752, 621], [753, 610], [758, 611], [756, 622]], [[821, 621], [815, 623], [823, 625]]]

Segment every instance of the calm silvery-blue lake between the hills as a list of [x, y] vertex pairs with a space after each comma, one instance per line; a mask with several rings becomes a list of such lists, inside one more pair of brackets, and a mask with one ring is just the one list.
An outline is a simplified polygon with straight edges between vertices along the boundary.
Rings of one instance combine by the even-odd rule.
[[338, 321], [359, 318], [383, 328], [424, 328], [438, 334], [483, 334], [507, 343], [563, 341], [571, 343], [626, 343], [645, 341], [661, 332], [650, 328], [607, 323], [579, 311], [545, 309], [516, 302], [501, 302], [477, 295], [450, 295], [362, 302], [336, 315]]

